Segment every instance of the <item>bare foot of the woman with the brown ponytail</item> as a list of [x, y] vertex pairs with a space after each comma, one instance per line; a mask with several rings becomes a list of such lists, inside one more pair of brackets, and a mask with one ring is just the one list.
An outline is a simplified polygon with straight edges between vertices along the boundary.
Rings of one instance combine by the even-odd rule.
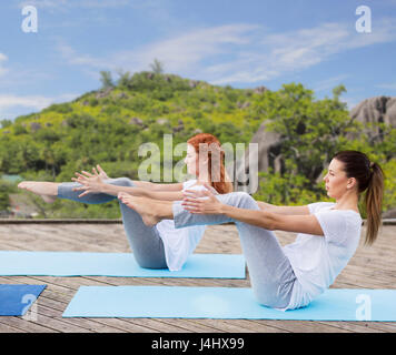
[[161, 220], [155, 200], [132, 196], [125, 192], [120, 192], [118, 199], [129, 209], [138, 212], [147, 226], [154, 226]]

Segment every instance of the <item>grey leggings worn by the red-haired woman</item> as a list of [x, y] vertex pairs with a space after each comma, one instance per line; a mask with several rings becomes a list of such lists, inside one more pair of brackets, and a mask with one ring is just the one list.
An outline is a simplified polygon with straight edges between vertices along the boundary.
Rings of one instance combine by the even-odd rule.
[[[117, 186], [133, 186], [132, 181], [128, 178], [109, 179], [106, 180], [106, 183]], [[81, 184], [73, 182], [61, 183], [58, 186], [58, 197], [87, 204], [106, 203], [117, 199], [117, 196], [105, 193], [89, 193], [79, 197], [78, 195], [81, 194], [82, 191], [72, 191], [73, 187], [78, 186], [81, 186]], [[162, 240], [159, 236], [156, 226], [147, 226], [139, 213], [129, 209], [120, 201], [119, 204], [122, 214], [123, 229], [139, 266], [147, 268], [168, 267]]]

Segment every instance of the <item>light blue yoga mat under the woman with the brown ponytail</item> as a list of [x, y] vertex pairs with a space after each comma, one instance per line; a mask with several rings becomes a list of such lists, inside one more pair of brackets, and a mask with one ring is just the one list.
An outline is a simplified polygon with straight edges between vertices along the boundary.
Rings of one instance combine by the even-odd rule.
[[251, 288], [81, 286], [63, 317], [245, 318], [396, 322], [396, 290], [327, 290], [308, 306], [259, 305]]

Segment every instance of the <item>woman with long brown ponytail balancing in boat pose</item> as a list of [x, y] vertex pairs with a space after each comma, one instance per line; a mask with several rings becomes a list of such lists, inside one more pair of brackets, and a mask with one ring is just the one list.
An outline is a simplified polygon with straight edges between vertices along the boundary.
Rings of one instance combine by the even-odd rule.
[[[348, 264], [360, 239], [358, 202], [367, 213], [366, 243], [378, 234], [384, 174], [358, 151], [337, 153], [324, 176], [327, 195], [335, 202], [276, 206], [257, 202], [245, 192], [214, 195], [186, 191], [184, 202], [157, 206], [150, 199], [122, 201], [139, 212], [147, 225], [174, 219], [176, 227], [234, 222], [257, 301], [278, 310], [306, 306], [325, 292]], [[205, 196], [206, 199], [202, 199]], [[298, 233], [281, 246], [274, 231]]]

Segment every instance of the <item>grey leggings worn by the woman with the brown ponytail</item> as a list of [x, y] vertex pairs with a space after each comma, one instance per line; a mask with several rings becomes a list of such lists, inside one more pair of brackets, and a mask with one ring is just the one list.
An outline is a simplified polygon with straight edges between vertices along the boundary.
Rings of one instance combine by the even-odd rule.
[[[217, 195], [225, 204], [247, 210], [259, 210], [256, 201], [245, 192]], [[284, 308], [289, 304], [295, 273], [274, 232], [229, 219], [225, 215], [192, 214], [181, 202], [174, 202], [176, 227], [235, 222], [257, 301], [266, 306]]]

